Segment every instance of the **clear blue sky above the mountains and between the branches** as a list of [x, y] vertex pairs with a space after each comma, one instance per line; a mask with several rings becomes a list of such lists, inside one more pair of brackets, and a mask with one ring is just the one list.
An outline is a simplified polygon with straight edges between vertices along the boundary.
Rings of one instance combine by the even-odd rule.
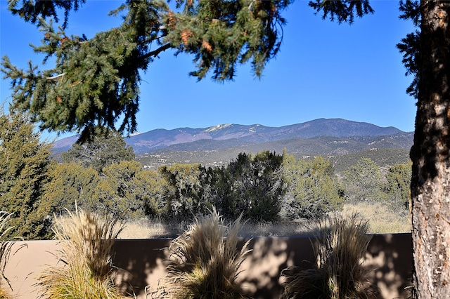
[[[113, 27], [120, 19], [107, 13], [121, 3], [87, 0], [79, 12], [71, 13], [68, 34], [91, 37]], [[350, 26], [322, 20], [307, 1], [295, 1], [284, 13], [288, 24], [281, 52], [261, 79], [243, 65], [235, 81], [197, 82], [188, 76], [194, 69], [191, 56], [162, 53], [142, 77], [138, 130], [284, 126], [342, 118], [413, 131], [416, 100], [406, 94], [411, 78], [404, 76], [406, 69], [395, 47], [413, 27], [399, 20], [398, 1], [371, 1], [371, 5], [375, 13]], [[28, 60], [40, 65], [41, 56], [29, 44], [39, 44], [41, 33], [11, 15], [6, 6], [6, 0], [0, 0], [0, 55], [8, 55], [20, 67]], [[1, 101], [8, 100], [9, 81], [1, 80], [0, 93]]]

